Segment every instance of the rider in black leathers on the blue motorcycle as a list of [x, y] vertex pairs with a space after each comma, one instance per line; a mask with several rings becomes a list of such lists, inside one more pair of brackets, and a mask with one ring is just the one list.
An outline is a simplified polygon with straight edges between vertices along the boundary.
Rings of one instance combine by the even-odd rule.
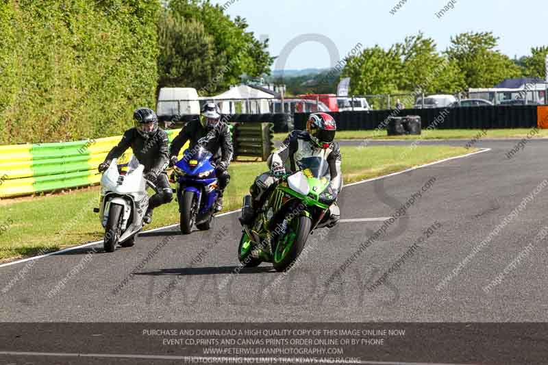
[[190, 140], [189, 149], [196, 147], [198, 140], [208, 138], [206, 149], [213, 155], [212, 164], [215, 166], [215, 173], [219, 179], [219, 198], [215, 203], [215, 211], [223, 210], [223, 192], [230, 181], [228, 166], [232, 160], [234, 149], [230, 129], [226, 123], [221, 121], [221, 110], [215, 103], [206, 103], [201, 110], [199, 121], [190, 121], [171, 143], [169, 151], [170, 166], [177, 163], [177, 155], [184, 144]]

